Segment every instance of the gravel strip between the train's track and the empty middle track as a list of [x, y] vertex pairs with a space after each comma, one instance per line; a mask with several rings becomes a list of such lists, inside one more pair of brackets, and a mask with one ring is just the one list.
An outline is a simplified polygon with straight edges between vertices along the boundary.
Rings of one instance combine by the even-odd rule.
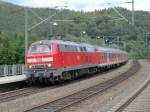
[[[89, 79], [79, 81], [66, 86], [50, 89], [41, 93], [19, 98], [13, 101], [5, 102], [0, 104], [0, 112], [22, 112], [26, 109], [45, 104], [50, 101], [62, 98], [64, 96], [76, 93], [85, 88], [92, 87], [101, 82], [109, 80], [121, 73], [124, 73], [132, 66], [132, 61], [129, 61], [125, 66], [120, 67], [110, 73], [91, 77]], [[89, 83], [90, 82], [90, 83]]]

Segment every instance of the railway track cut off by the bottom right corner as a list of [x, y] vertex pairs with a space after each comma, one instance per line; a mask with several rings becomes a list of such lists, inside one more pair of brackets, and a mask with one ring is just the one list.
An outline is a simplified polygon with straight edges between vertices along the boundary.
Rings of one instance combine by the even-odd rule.
[[[148, 87], [150, 86], [150, 77], [147, 77], [147, 79], [141, 83], [141, 85], [135, 89], [131, 94], [129, 94], [126, 98], [122, 99], [117, 105], [115, 105], [114, 107], [112, 107], [108, 112], [128, 112], [128, 106], [130, 107], [130, 104], [136, 100], [135, 104], [132, 105], [132, 109], [129, 110], [129, 111], [140, 111], [140, 112], [145, 112], [145, 111], [149, 111], [149, 108], [148, 110], [145, 109], [144, 105], [146, 105], [146, 98], [145, 98], [145, 95], [146, 94], [143, 94], [144, 96], [141, 97], [141, 99], [138, 99], [140, 97], [140, 95], [143, 93], [143, 92], [148, 92]], [[147, 90], [146, 90], [147, 89]], [[149, 94], [149, 93], [148, 93]], [[137, 99], [136, 99], [137, 98]], [[149, 95], [147, 97], [147, 99], [149, 98]], [[141, 100], [142, 103], [139, 103], [138, 100]], [[145, 101], [145, 102], [144, 102]], [[145, 103], [145, 104], [144, 104]], [[142, 106], [141, 106], [142, 105]], [[141, 106], [142, 107], [142, 110], [138, 110], [137, 107]], [[137, 109], [137, 110], [136, 110]]]

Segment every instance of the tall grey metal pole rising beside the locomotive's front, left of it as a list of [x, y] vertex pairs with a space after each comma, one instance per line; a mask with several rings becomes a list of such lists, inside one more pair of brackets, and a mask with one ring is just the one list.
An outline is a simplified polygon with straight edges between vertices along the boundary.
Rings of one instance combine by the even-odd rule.
[[[28, 9], [25, 8], [25, 56], [27, 54], [28, 50]], [[27, 60], [25, 58], [25, 65], [27, 63]]]

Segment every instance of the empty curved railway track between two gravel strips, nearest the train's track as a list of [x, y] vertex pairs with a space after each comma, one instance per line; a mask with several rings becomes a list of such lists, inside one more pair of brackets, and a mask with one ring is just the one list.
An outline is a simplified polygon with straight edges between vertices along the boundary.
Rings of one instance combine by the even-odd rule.
[[49, 102], [44, 105], [39, 105], [38, 107], [33, 107], [32, 109], [29, 109], [25, 112], [58, 112], [58, 111], [61, 111], [67, 107], [70, 107], [94, 95], [103, 93], [107, 89], [121, 83], [122, 81], [134, 75], [140, 69], [140, 67], [141, 67], [140, 64], [137, 61], [134, 61], [133, 66], [127, 72], [121, 74], [120, 76], [110, 79], [104, 83], [98, 84], [94, 87], [82, 90], [78, 93], [74, 93], [72, 95], [55, 100], [53, 102]]

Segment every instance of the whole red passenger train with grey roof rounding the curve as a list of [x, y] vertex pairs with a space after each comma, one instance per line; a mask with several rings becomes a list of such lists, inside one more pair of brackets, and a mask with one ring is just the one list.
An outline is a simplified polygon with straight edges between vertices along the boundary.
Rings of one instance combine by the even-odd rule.
[[127, 61], [128, 53], [119, 49], [65, 40], [41, 40], [32, 43], [26, 54], [27, 82], [55, 84]]

